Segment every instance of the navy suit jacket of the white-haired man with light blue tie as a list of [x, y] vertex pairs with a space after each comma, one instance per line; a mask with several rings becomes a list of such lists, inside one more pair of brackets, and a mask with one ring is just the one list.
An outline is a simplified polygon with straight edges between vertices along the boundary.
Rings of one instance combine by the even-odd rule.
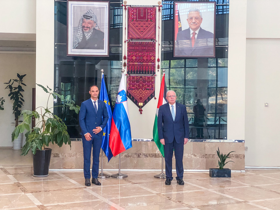
[[159, 139], [164, 139], [166, 143], [172, 143], [174, 138], [177, 143], [184, 141], [184, 138], [189, 138], [189, 120], [185, 105], [175, 103], [176, 115], [173, 121], [169, 103], [159, 107], [157, 117], [157, 130]]

